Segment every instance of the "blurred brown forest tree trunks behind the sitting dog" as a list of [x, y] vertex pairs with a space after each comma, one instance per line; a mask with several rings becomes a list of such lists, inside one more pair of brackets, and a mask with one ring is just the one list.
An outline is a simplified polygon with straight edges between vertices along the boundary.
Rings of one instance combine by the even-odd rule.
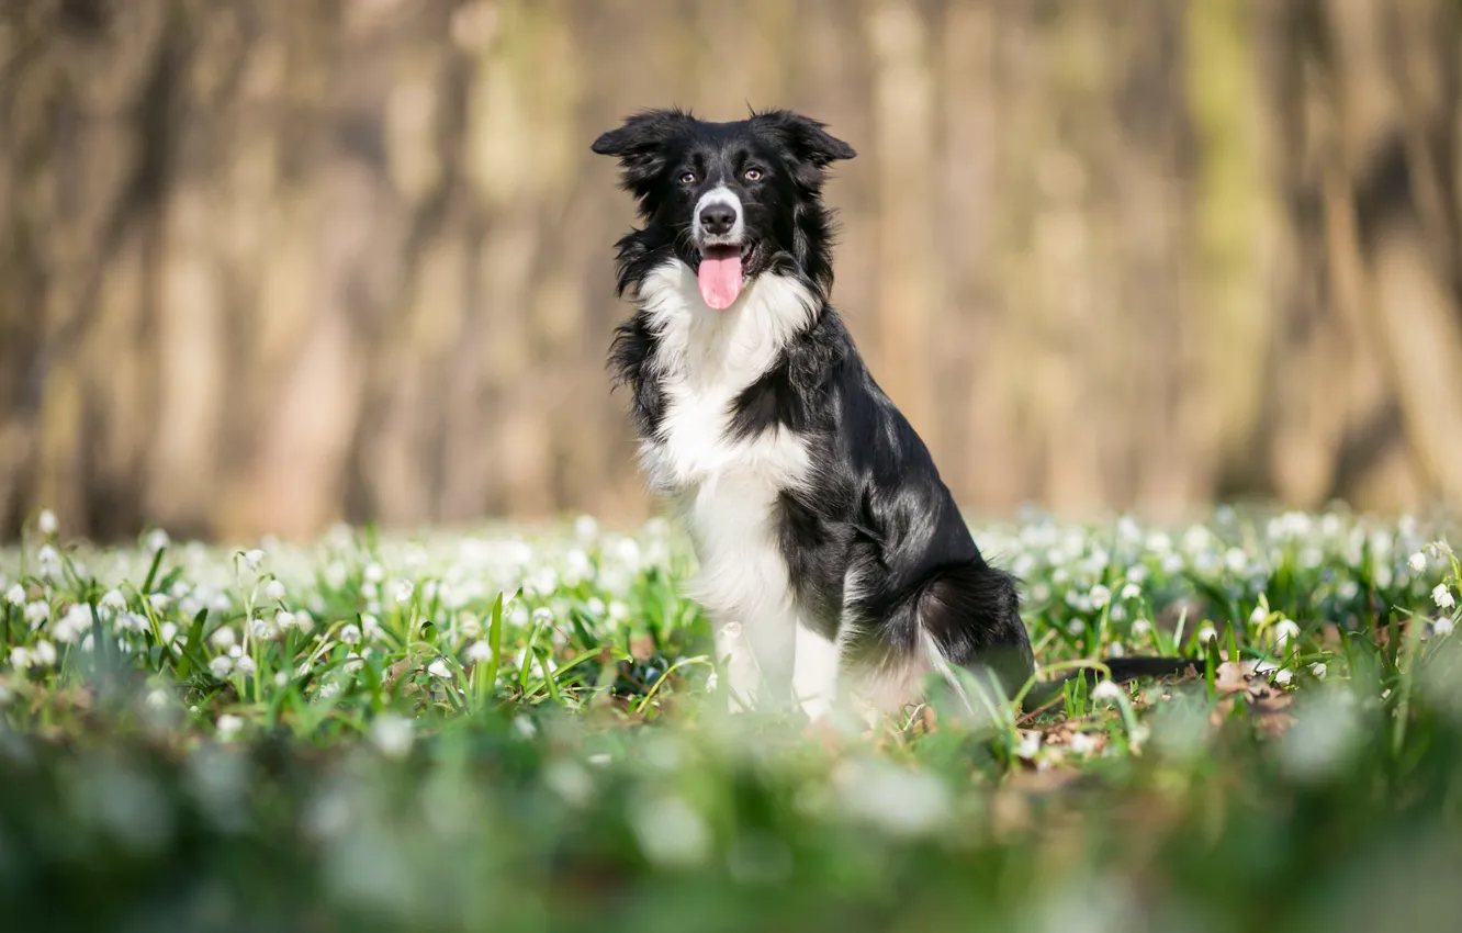
[[1458, 0], [0, 0], [0, 538], [642, 491], [633, 110], [826, 120], [977, 515], [1462, 502]]

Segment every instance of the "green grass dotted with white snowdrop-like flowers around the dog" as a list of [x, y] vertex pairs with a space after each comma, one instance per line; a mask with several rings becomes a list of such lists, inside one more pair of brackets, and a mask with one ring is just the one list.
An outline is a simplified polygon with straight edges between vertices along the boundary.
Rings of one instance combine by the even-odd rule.
[[[0, 551], [0, 917], [118, 930], [1450, 930], [1459, 566], [1349, 515], [978, 526], [1031, 719], [727, 717], [664, 522]], [[1411, 566], [1414, 554], [1424, 566]], [[1440, 589], [1439, 589], [1440, 588]]]

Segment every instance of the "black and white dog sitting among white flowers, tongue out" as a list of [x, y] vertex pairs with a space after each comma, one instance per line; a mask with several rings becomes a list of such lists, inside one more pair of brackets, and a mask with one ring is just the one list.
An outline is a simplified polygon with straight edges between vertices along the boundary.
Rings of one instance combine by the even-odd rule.
[[1019, 690], [1034, 658], [1016, 581], [985, 563], [829, 304], [820, 194], [852, 148], [788, 111], [652, 110], [592, 149], [618, 159], [643, 222], [618, 241], [618, 292], [637, 310], [611, 366], [651, 486], [694, 543], [692, 595], [734, 708], [795, 700], [820, 718], [854, 696], [892, 712], [931, 673], [959, 690], [955, 667]]

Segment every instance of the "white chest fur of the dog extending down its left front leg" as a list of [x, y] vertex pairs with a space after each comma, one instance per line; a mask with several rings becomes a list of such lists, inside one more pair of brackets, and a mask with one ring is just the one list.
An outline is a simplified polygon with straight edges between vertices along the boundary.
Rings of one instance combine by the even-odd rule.
[[811, 322], [816, 298], [794, 279], [763, 273], [735, 304], [713, 311], [680, 260], [651, 273], [639, 297], [659, 335], [651, 366], [665, 390], [659, 431], [640, 446], [640, 459], [696, 544], [700, 572], [689, 595], [711, 614], [718, 654], [730, 655], [731, 692], [753, 699], [765, 689], [784, 693], [800, 626], [775, 505], [782, 490], [807, 481], [810, 458], [806, 440], [791, 431], [734, 440], [728, 426], [735, 398]]

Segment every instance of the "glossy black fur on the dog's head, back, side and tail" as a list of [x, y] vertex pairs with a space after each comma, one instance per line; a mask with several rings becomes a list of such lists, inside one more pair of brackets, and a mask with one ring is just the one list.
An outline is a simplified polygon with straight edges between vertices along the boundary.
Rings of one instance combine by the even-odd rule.
[[[1019, 690], [1034, 658], [1016, 581], [981, 556], [924, 442], [868, 373], [829, 303], [833, 224], [820, 193], [825, 170], [854, 158], [852, 148], [788, 111], [708, 123], [656, 110], [604, 133], [592, 149], [618, 158], [643, 224], [617, 244], [618, 294], [637, 298], [645, 278], [674, 259], [697, 268], [700, 252], [687, 234], [692, 208], [722, 183], [744, 206], [747, 281], [791, 276], [819, 304], [776, 363], [734, 399], [727, 427], [728, 442], [782, 428], [808, 445], [810, 481], [784, 488], [769, 516], [804, 617], [829, 639], [857, 619], [857, 633], [844, 635], [845, 658], [855, 665], [917, 657], [927, 633], [949, 662], [993, 674], [1007, 693]], [[749, 164], [762, 168], [754, 183], [738, 174]], [[656, 339], [640, 309], [618, 328], [610, 354], [617, 380], [633, 393], [642, 437], [654, 437], [665, 415], [662, 379], [651, 364]], [[848, 581], [858, 589], [845, 603]], [[1105, 664], [1114, 677], [1130, 679], [1186, 662]]]

